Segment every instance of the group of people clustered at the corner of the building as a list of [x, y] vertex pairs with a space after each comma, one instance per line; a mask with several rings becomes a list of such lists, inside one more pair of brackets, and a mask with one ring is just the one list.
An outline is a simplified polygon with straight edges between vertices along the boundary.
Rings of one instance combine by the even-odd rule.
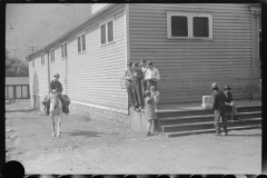
[[157, 102], [159, 101], [159, 92], [157, 90], [157, 82], [160, 80], [160, 75], [157, 68], [152, 66], [152, 61], [140, 60], [128, 63], [125, 72], [125, 85], [130, 101], [130, 107], [135, 109], [145, 109], [145, 117], [148, 120], [147, 136], [150, 132], [152, 121], [155, 126], [155, 134], [158, 134], [157, 120]]

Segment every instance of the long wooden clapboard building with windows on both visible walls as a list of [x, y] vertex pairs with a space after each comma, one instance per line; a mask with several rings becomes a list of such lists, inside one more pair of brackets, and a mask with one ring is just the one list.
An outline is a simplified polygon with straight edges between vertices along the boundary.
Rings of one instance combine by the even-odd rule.
[[249, 3], [93, 4], [92, 16], [27, 57], [32, 106], [59, 72], [72, 113], [128, 126], [120, 78], [142, 58], [159, 69], [160, 103], [201, 102], [212, 82], [236, 99], [257, 98], [260, 19], [260, 4]]

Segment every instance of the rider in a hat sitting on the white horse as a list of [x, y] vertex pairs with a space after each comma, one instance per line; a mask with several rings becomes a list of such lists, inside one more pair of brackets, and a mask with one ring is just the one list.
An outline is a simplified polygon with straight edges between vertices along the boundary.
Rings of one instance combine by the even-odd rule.
[[[62, 102], [62, 110], [63, 110], [63, 112], [66, 113], [66, 115], [68, 115], [69, 113], [69, 110], [68, 110], [68, 108], [67, 108], [67, 103], [66, 103], [66, 101], [65, 101], [65, 98], [62, 97], [62, 95], [61, 95], [61, 92], [63, 91], [63, 88], [62, 88], [62, 85], [61, 85], [61, 82], [60, 81], [58, 81], [58, 79], [59, 79], [59, 73], [56, 73], [55, 76], [53, 76], [55, 78], [53, 78], [53, 80], [50, 82], [50, 90], [49, 90], [49, 93], [52, 91], [52, 90], [57, 90], [58, 91], [58, 97], [59, 97], [59, 99], [61, 100], [61, 102]], [[46, 108], [47, 108], [47, 111], [46, 111], [46, 115], [47, 116], [49, 116], [49, 108], [50, 108], [50, 100], [47, 100], [47, 102], [46, 102]]]

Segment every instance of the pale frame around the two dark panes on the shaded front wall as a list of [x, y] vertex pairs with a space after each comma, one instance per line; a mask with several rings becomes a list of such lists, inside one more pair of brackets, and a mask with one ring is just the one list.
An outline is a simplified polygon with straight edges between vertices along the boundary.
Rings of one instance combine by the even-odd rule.
[[[187, 17], [188, 19], [188, 37], [172, 37], [171, 36], [171, 17], [172, 16], [180, 16]], [[205, 17], [208, 18], [208, 37], [194, 37], [194, 21], [192, 18], [195, 17]], [[212, 14], [211, 13], [188, 13], [188, 12], [167, 12], [167, 39], [201, 39], [201, 40], [212, 40]]]

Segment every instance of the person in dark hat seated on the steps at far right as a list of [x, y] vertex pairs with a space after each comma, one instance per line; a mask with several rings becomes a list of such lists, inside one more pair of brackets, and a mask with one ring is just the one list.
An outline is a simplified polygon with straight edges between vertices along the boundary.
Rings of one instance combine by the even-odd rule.
[[225, 96], [226, 96], [226, 109], [227, 109], [227, 112], [233, 112], [233, 109], [234, 109], [234, 116], [235, 116], [235, 119], [238, 120], [238, 117], [237, 117], [237, 109], [236, 109], [236, 102], [233, 98], [233, 95], [230, 92], [230, 87], [229, 86], [225, 86], [224, 88], [224, 92], [225, 92]]

